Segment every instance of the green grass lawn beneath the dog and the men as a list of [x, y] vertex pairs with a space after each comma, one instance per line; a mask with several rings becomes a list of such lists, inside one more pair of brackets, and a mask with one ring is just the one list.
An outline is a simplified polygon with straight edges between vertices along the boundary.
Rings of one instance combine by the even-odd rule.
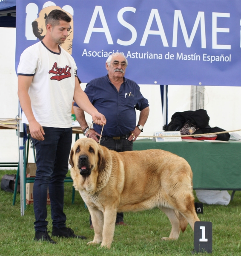
[[[0, 170], [4, 174], [15, 171]], [[114, 241], [110, 250], [99, 245], [87, 245], [92, 241], [94, 231], [89, 229], [89, 212], [78, 192], [72, 205], [72, 183], [65, 183], [65, 207], [67, 226], [87, 240], [56, 239], [57, 244], [34, 241], [33, 206], [28, 205], [24, 216], [20, 215], [20, 194], [15, 206], [13, 194], [0, 190], [0, 256], [186, 256], [192, 255], [193, 231], [188, 225], [177, 241], [162, 241], [169, 236], [171, 224], [159, 209], [125, 213], [128, 226], [115, 228]], [[197, 201], [197, 199], [196, 199]], [[49, 231], [52, 231], [50, 206], [48, 208]], [[234, 200], [228, 206], [204, 204], [201, 221], [212, 221], [212, 255], [241, 255], [241, 191], [235, 192]], [[201, 255], [210, 255], [202, 253]]]

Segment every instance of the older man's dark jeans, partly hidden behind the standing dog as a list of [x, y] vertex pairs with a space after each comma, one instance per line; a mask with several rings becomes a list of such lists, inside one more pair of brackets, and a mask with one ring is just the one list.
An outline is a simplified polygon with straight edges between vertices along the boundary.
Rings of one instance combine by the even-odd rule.
[[[132, 151], [133, 150], [133, 142], [127, 140], [129, 134], [126, 138], [121, 140], [114, 140], [111, 137], [102, 137], [100, 140], [100, 145], [105, 146], [111, 150], [115, 150], [117, 152], [124, 152], [124, 151]], [[117, 212], [116, 214], [116, 221], [115, 223], [119, 223], [124, 220], [123, 212]], [[89, 219], [90, 224], [92, 224], [91, 217]]]

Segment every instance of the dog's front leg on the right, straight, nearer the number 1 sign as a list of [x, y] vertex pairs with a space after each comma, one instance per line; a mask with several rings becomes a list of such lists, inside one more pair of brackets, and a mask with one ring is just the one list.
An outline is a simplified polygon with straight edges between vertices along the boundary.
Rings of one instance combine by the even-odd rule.
[[103, 240], [101, 247], [110, 248], [114, 232], [115, 232], [115, 220], [116, 220], [116, 208], [110, 208], [104, 210], [104, 225], [103, 225]]

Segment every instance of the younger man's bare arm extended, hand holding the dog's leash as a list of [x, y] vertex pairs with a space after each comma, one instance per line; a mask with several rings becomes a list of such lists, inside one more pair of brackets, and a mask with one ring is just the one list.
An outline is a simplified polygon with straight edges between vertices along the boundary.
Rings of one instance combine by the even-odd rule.
[[[74, 101], [77, 105], [83, 110], [89, 113], [92, 116], [93, 122], [98, 125], [105, 125], [106, 118], [104, 115], [98, 112], [98, 110], [91, 104], [86, 93], [81, 89], [80, 83], [75, 77], [75, 92], [74, 92]], [[81, 125], [80, 125], [81, 126]], [[82, 126], [81, 126], [82, 127]]]

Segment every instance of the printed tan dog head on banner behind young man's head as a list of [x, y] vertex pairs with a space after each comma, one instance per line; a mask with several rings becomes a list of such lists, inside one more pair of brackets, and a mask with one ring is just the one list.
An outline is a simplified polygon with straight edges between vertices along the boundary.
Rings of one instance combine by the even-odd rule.
[[[37, 38], [39, 38], [39, 40], [42, 40], [46, 35], [46, 25], [45, 25], [46, 17], [49, 15], [49, 12], [56, 9], [66, 12], [59, 6], [48, 6], [46, 8], [43, 8], [39, 13], [39, 17], [32, 22], [33, 33]], [[69, 12], [66, 12], [66, 14], [69, 15], [69, 17], [71, 17], [72, 19], [70, 22], [71, 28], [69, 30], [68, 37], [66, 38], [64, 43], [61, 44], [60, 46], [63, 49], [65, 49], [67, 52], [69, 52], [69, 54], [72, 54], [72, 43], [74, 38], [74, 22], [73, 22], [73, 16]]]

